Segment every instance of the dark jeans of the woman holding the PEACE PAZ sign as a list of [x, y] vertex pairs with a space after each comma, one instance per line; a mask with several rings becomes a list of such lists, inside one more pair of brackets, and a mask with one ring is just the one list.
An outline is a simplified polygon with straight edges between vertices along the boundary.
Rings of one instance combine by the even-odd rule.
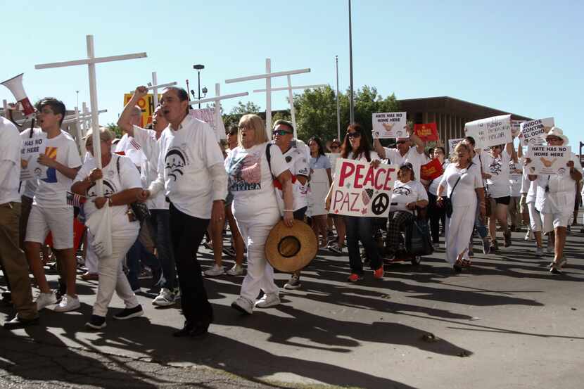
[[351, 273], [363, 274], [363, 262], [359, 253], [359, 241], [365, 248], [372, 269], [381, 267], [381, 258], [373, 238], [373, 217], [344, 216], [347, 227], [347, 249]]

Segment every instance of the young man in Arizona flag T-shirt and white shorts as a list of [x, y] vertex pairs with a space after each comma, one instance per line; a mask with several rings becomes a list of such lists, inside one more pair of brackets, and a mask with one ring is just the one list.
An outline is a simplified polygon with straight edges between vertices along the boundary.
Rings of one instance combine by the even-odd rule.
[[73, 207], [67, 203], [67, 191], [77, 175], [82, 162], [75, 140], [61, 130], [65, 105], [56, 98], [43, 98], [36, 105], [37, 120], [46, 133], [46, 150], [39, 156], [39, 164], [47, 167], [46, 178], [38, 179], [32, 209], [28, 218], [25, 253], [34, 279], [41, 293], [37, 298], [37, 309], [57, 302], [46, 281], [40, 258], [41, 245], [51, 231], [53, 250], [65, 273], [67, 294], [55, 307], [56, 312], [68, 312], [80, 307], [75, 291], [77, 261], [73, 247]]

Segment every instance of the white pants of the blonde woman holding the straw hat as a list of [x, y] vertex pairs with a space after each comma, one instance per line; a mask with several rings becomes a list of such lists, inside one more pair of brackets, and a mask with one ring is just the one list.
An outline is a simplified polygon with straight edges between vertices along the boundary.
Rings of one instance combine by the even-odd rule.
[[264, 252], [269, 231], [272, 231], [279, 220], [277, 208], [267, 208], [250, 218], [238, 219], [236, 216], [237, 227], [248, 248], [248, 272], [241, 284], [241, 297], [251, 302], [258, 298], [260, 289], [264, 293], [279, 293], [279, 288], [274, 283], [274, 269], [267, 262]]

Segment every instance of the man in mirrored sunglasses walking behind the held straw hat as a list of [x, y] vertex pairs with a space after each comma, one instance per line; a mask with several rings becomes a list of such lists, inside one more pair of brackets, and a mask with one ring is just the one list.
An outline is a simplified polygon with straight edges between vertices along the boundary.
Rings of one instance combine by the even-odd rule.
[[[294, 219], [304, 220], [304, 215], [308, 208], [306, 198], [307, 181], [310, 175], [310, 165], [307, 159], [305, 145], [298, 144], [294, 137], [294, 127], [291, 122], [277, 120], [272, 129], [274, 144], [276, 144], [284, 160], [288, 164], [288, 170], [292, 173], [292, 193], [294, 196], [293, 215]], [[294, 272], [290, 281], [284, 285], [285, 289], [300, 288], [300, 270]]]

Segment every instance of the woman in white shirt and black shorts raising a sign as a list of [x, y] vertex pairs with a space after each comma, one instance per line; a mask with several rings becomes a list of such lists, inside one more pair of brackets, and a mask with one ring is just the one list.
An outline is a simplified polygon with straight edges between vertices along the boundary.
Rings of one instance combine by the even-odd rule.
[[507, 223], [507, 212], [511, 202], [509, 191], [509, 161], [513, 155], [513, 142], [509, 142], [505, 149], [502, 146], [492, 146], [488, 152], [481, 153], [483, 165], [483, 179], [490, 201], [491, 215], [489, 215], [490, 252], [499, 249], [497, 243], [497, 222], [503, 229], [504, 247], [511, 245], [511, 232]]

